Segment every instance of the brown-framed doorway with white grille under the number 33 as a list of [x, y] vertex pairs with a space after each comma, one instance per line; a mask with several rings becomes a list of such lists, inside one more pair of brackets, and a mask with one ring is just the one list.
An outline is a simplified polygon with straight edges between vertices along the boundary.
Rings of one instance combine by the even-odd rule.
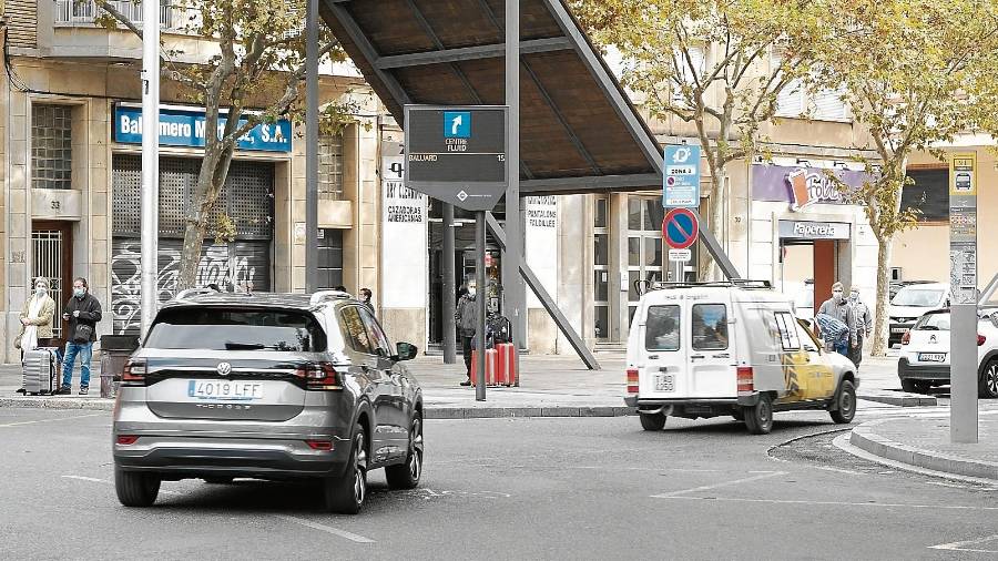
[[49, 279], [49, 295], [55, 300], [51, 346], [65, 346], [67, 323], [62, 320], [62, 309], [73, 285], [73, 223], [58, 221], [33, 221], [31, 223], [31, 283], [44, 277]]

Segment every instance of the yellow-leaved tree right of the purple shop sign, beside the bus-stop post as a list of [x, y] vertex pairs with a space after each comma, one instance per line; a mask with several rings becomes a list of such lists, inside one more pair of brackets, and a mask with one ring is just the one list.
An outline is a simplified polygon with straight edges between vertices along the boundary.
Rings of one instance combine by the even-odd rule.
[[[874, 355], [887, 343], [889, 266], [895, 235], [915, 226], [902, 207], [913, 152], [945, 161], [940, 143], [960, 133], [994, 132], [998, 113], [998, 7], [976, 0], [826, 0], [824, 44], [812, 88], [842, 89], [856, 121], [869, 129], [869, 180], [839, 185], [863, 206], [877, 239]], [[834, 181], [834, 180], [833, 180]]]

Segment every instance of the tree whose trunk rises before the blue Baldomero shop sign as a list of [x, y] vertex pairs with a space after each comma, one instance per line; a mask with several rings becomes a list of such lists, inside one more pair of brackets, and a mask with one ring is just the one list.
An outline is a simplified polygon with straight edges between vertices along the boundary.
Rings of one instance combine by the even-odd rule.
[[[123, 26], [142, 37], [142, 29], [116, 2], [95, 2], [104, 12], [96, 23], [111, 29]], [[261, 123], [302, 110], [306, 0], [173, 0], [171, 6], [182, 19], [180, 32], [217, 44], [217, 53], [206, 64], [193, 65], [173, 62], [181, 51], [161, 49], [163, 78], [181, 84], [191, 102], [204, 106], [206, 131], [220, 131], [205, 135], [204, 159], [184, 230], [180, 289], [195, 283], [208, 228], [213, 226], [216, 237], [223, 239], [234, 235], [235, 226], [227, 216], [216, 225], [208, 224], [208, 217], [222, 194], [238, 139]], [[320, 27], [319, 57], [320, 62], [345, 58], [325, 26]], [[342, 126], [352, 109], [349, 102], [327, 104], [324, 124]]]

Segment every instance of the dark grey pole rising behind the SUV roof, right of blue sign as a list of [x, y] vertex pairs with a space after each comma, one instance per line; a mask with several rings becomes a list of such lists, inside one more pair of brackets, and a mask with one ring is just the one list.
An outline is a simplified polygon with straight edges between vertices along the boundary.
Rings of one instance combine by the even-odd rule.
[[305, 14], [305, 292], [318, 290], [318, 0]]

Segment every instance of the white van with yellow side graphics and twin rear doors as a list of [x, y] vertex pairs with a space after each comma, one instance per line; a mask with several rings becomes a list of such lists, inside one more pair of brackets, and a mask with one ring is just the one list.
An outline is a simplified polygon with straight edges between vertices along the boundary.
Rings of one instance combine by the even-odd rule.
[[631, 324], [624, 401], [645, 430], [669, 416], [731, 415], [761, 435], [788, 409], [851, 422], [856, 367], [822, 348], [766, 282], [656, 284]]

